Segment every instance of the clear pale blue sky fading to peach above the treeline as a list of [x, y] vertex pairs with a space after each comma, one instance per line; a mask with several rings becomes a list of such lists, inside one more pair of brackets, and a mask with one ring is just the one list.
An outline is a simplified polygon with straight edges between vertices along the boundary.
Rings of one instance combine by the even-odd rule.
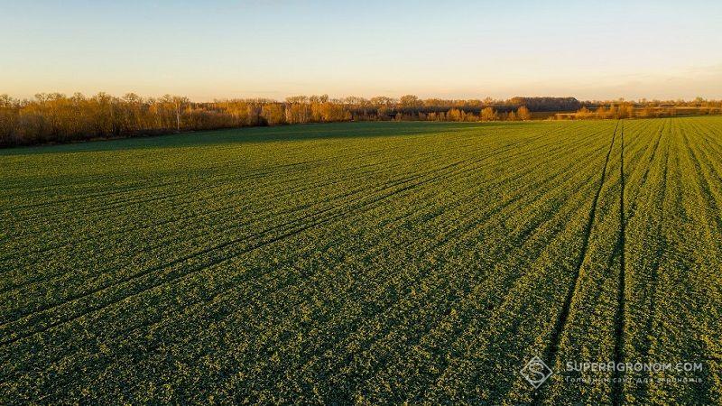
[[722, 98], [722, 1], [0, 0], [0, 94]]

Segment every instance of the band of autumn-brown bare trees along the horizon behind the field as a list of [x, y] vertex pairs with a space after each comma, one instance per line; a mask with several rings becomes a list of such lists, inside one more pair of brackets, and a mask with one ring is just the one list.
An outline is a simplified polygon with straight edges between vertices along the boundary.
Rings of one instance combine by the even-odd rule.
[[[323, 96], [192, 102], [188, 97], [113, 97], [99, 93], [67, 97], [39, 94], [19, 100], [0, 96], [0, 146], [69, 143], [97, 138], [167, 134], [257, 125], [342, 121], [524, 121], [532, 118], [626, 118], [671, 115], [678, 107], [720, 114], [722, 102], [579, 102], [574, 97], [512, 97], [508, 100]], [[557, 114], [560, 113], [560, 114]], [[601, 114], [600, 114], [601, 113]]]

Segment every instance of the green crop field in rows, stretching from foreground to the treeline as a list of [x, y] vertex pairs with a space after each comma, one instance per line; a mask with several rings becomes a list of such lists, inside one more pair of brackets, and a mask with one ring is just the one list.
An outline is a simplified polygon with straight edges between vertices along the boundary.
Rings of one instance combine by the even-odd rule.
[[0, 403], [720, 404], [721, 209], [722, 117], [3, 150]]

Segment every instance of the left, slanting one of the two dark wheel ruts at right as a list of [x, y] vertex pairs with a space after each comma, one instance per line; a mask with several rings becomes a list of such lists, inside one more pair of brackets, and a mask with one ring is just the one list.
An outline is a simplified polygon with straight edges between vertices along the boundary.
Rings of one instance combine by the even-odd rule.
[[[554, 328], [551, 330], [551, 338], [550, 338], [550, 344], [547, 346], [546, 350], [544, 351], [544, 357], [543, 360], [546, 360], [545, 362], [549, 362], [551, 364], [555, 364], [557, 359], [557, 354], [559, 353], [559, 346], [561, 341], [561, 333], [564, 331], [567, 325], [567, 319], [569, 318], [569, 310], [571, 309], [571, 303], [574, 300], [575, 293], [578, 289], [578, 283], [579, 283], [579, 272], [581, 272], [581, 267], [584, 264], [584, 258], [587, 257], [587, 251], [589, 247], [589, 239], [592, 234], [592, 226], [594, 225], [594, 218], [597, 215], [597, 203], [599, 201], [599, 195], [602, 193], [602, 188], [604, 187], [604, 181], [606, 180], [606, 168], [609, 165], [609, 158], [612, 155], [612, 150], [615, 146], [616, 141], [616, 132], [619, 128], [619, 121], [616, 122], [615, 126], [615, 132], [612, 134], [612, 142], [609, 143], [609, 151], [606, 152], [606, 159], [604, 162], [604, 167], [602, 168], [602, 174], [599, 179], [599, 187], [597, 188], [597, 192], [595, 193], [594, 200], [592, 200], [592, 207], [589, 210], [589, 216], [587, 220], [587, 225], [584, 228], [584, 243], [582, 244], [581, 253], [579, 254], [579, 259], [577, 260], [577, 265], [575, 266], [576, 271], [574, 272], [574, 275], [572, 277], [572, 281], [569, 284], [569, 291], [567, 292], [567, 296], [564, 299], [564, 304], [561, 307], [560, 315], [557, 318], [556, 322], [554, 323]], [[533, 405], [539, 405], [542, 404], [543, 391], [536, 390], [533, 392], [532, 395], [532, 404]]]

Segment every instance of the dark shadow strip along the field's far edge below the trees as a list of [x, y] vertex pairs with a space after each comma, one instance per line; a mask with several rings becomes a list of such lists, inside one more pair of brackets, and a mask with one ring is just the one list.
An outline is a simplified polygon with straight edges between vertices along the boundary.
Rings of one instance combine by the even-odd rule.
[[[67, 153], [173, 148], [213, 144], [288, 142], [332, 138], [397, 137], [467, 131], [475, 127], [489, 128], [500, 125], [510, 125], [510, 123], [361, 122], [245, 127], [116, 140], [98, 140], [85, 143], [18, 147], [0, 150], [0, 156], [54, 152]], [[525, 126], [532, 125], [532, 123], [514, 123], [513, 125]]]

